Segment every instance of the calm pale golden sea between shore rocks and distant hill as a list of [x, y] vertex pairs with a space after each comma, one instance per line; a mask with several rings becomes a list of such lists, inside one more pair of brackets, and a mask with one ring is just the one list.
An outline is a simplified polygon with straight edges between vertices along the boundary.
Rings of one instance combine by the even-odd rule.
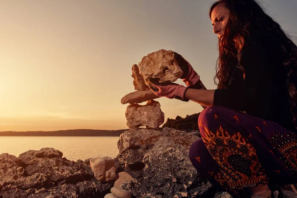
[[85, 160], [93, 157], [118, 155], [117, 142], [119, 137], [0, 137], [0, 154], [15, 155], [28, 150], [55, 148], [69, 160]]

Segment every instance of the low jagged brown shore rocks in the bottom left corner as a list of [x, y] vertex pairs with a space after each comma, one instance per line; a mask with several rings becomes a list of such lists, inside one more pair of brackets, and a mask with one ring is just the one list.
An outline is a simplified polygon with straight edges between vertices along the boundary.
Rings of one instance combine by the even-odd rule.
[[0, 197], [103, 198], [112, 182], [99, 182], [90, 165], [62, 158], [53, 148], [29, 150], [16, 157], [0, 154]]

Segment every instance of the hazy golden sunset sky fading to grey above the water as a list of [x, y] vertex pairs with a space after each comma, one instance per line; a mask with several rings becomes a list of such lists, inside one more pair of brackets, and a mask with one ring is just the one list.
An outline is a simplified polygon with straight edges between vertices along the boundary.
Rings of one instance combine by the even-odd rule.
[[[0, 131], [126, 129], [128, 104], [120, 100], [135, 91], [131, 67], [159, 49], [183, 55], [215, 89], [212, 2], [2, 0]], [[297, 0], [262, 2], [297, 36]], [[165, 121], [202, 110], [193, 101], [156, 100]]]

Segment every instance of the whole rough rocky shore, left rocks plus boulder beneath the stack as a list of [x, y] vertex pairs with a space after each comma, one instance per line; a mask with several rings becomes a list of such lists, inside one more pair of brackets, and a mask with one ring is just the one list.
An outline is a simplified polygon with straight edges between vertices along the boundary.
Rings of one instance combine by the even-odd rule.
[[[54, 148], [28, 150], [19, 157], [3, 153], [0, 198], [107, 198], [117, 188], [132, 198], [195, 198], [211, 186], [188, 157], [198, 138], [198, 132], [172, 128], [127, 130], [117, 143], [119, 154], [109, 159], [112, 168], [97, 165], [105, 168], [104, 178], [92, 165], [96, 159], [70, 161]], [[230, 195], [218, 192], [215, 198]]]

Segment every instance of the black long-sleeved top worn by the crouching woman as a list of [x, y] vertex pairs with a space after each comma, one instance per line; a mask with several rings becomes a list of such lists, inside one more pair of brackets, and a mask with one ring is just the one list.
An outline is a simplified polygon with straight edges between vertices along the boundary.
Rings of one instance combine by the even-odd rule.
[[[283, 50], [263, 31], [250, 35], [226, 89], [214, 92], [214, 105], [225, 106], [296, 131], [290, 111]], [[245, 75], [244, 72], [245, 71]]]

